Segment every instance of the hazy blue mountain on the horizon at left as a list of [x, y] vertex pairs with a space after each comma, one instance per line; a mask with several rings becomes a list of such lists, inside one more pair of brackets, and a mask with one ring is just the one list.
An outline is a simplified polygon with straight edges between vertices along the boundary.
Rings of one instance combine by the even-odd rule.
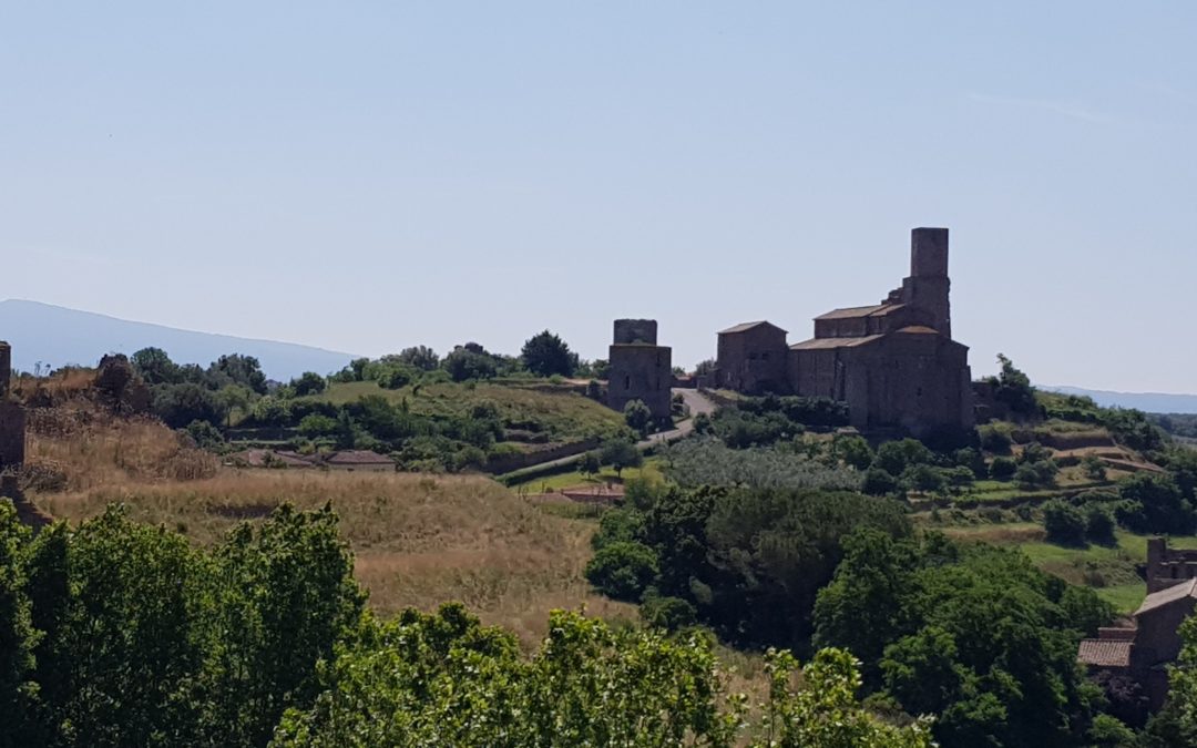
[[23, 371], [32, 371], [38, 363], [95, 366], [105, 353], [128, 354], [147, 346], [162, 348], [176, 363], [201, 366], [226, 353], [253, 355], [267, 377], [279, 381], [305, 371], [339, 371], [356, 358], [339, 351], [180, 330], [19, 299], [0, 302], [0, 340], [12, 343], [13, 366]]

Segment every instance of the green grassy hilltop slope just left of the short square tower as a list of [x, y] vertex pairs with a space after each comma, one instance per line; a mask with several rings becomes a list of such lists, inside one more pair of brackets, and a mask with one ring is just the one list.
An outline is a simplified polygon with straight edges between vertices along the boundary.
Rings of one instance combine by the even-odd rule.
[[382, 395], [391, 402], [407, 400], [413, 413], [449, 415], [468, 413], [475, 405], [492, 402], [510, 422], [534, 420], [554, 442], [581, 439], [618, 431], [624, 418], [594, 400], [569, 391], [540, 391], [504, 384], [429, 384], [387, 390], [375, 382], [335, 383], [312, 399], [342, 405], [365, 395]]

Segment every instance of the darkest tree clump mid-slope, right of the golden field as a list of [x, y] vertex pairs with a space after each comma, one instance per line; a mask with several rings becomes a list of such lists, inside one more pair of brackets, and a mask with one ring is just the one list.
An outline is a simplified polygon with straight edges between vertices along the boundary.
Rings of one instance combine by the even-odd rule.
[[851, 492], [639, 488], [603, 516], [587, 571], [622, 600], [682, 600], [739, 644], [801, 647], [840, 537], [858, 527], [911, 531], [897, 501]]

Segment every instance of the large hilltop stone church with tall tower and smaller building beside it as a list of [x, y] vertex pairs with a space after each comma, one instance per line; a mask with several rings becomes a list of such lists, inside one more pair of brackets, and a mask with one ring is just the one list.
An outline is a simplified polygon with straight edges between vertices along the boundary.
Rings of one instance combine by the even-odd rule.
[[952, 340], [949, 288], [948, 230], [915, 229], [910, 275], [880, 304], [820, 315], [814, 337], [788, 349], [779, 348], [785, 332], [767, 322], [729, 328], [719, 333], [716, 382], [844, 401], [861, 430], [971, 428], [968, 348]]

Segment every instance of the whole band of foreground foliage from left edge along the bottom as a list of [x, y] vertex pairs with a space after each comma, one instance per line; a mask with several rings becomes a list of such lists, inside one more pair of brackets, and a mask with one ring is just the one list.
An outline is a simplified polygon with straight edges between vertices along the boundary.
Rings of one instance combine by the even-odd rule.
[[749, 709], [698, 632], [555, 613], [524, 657], [460, 606], [363, 602], [327, 509], [205, 551], [120, 510], [34, 539], [2, 501], [0, 746], [930, 746], [838, 650], [771, 652]]

